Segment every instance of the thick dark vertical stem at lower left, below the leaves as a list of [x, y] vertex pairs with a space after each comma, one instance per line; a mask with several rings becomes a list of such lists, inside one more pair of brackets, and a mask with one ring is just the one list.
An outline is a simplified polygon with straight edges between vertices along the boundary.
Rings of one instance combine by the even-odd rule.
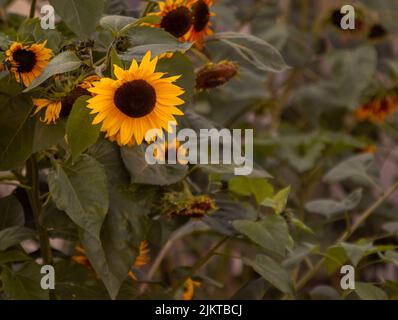
[[52, 265], [53, 256], [48, 237], [47, 229], [40, 223], [40, 216], [43, 210], [43, 204], [40, 199], [40, 186], [39, 186], [39, 168], [37, 165], [36, 155], [33, 154], [26, 162], [26, 175], [30, 189], [27, 191], [30, 206], [32, 208], [33, 217], [37, 232], [39, 234], [40, 252], [44, 264]]

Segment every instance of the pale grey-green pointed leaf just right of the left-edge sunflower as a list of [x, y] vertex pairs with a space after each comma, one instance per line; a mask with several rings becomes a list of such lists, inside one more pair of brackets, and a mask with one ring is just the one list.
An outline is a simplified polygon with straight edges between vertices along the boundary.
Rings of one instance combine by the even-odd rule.
[[37, 86], [41, 85], [44, 81], [56, 74], [62, 74], [76, 70], [81, 66], [82, 62], [72, 51], [61, 52], [54, 57], [50, 63], [44, 68], [43, 72], [37, 78], [33, 79], [30, 85], [24, 90], [28, 92]]

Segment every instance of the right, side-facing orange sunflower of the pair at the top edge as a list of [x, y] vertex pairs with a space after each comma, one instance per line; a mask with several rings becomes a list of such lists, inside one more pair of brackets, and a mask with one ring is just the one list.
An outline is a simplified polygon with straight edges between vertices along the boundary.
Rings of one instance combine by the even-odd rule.
[[192, 8], [193, 25], [184, 40], [193, 42], [199, 49], [202, 49], [204, 38], [213, 34], [210, 29], [210, 18], [215, 15], [210, 10], [213, 0], [191, 0], [189, 5]]

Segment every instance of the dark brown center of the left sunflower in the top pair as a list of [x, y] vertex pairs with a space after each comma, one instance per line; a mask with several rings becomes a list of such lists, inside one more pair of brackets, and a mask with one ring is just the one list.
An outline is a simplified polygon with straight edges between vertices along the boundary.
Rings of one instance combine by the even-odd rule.
[[186, 34], [192, 26], [192, 14], [187, 7], [178, 7], [167, 13], [160, 26], [176, 38]]

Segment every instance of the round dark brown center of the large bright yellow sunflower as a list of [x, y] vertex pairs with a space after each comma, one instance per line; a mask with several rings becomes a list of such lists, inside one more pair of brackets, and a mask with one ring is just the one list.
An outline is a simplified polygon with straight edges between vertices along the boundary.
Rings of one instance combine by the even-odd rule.
[[125, 115], [141, 118], [155, 108], [156, 91], [145, 80], [134, 80], [123, 84], [116, 90], [114, 102]]

